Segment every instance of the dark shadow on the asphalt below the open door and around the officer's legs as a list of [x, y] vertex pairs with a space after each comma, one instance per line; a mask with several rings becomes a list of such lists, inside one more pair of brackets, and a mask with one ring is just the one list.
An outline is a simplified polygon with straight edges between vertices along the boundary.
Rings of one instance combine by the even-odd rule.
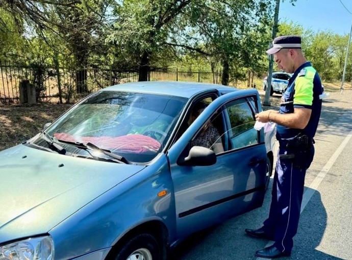
[[[311, 189], [305, 187], [305, 192], [308, 190]], [[269, 190], [267, 194], [269, 196], [266, 196], [263, 207], [191, 235], [173, 249], [171, 259], [256, 259], [255, 251], [264, 248], [269, 241], [248, 237], [244, 234], [244, 228], [259, 227], [267, 217], [270, 204]], [[280, 259], [343, 259], [317, 249], [325, 232], [326, 220], [327, 214], [320, 193], [315, 191], [301, 213], [291, 256]]]

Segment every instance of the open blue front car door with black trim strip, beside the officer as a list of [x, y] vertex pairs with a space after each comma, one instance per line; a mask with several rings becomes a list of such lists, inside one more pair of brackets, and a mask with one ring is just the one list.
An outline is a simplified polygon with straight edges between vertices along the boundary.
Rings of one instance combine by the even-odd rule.
[[[231, 92], [213, 101], [168, 151], [174, 186], [178, 237], [259, 207], [264, 199], [264, 133], [253, 129], [259, 96], [256, 90]], [[180, 166], [200, 129], [220, 116], [228, 147], [211, 166]]]

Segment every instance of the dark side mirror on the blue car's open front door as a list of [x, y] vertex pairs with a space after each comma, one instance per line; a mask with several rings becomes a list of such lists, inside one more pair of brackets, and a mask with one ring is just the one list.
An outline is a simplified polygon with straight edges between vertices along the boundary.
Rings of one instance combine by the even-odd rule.
[[181, 166], [210, 166], [216, 163], [215, 153], [205, 147], [193, 146], [184, 159], [179, 159]]

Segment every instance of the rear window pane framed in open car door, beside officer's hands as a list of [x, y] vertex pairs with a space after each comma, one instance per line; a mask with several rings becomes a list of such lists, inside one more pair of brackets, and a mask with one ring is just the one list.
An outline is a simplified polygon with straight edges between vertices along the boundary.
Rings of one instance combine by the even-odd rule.
[[254, 124], [256, 104], [254, 99], [241, 99], [225, 106], [229, 115], [229, 138], [232, 149], [258, 144], [258, 131]]

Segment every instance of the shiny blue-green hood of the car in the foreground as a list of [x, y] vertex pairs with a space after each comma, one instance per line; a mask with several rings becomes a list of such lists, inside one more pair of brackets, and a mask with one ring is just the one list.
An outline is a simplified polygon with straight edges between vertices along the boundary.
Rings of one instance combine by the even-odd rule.
[[48, 232], [143, 168], [24, 145], [0, 152], [0, 244]]

